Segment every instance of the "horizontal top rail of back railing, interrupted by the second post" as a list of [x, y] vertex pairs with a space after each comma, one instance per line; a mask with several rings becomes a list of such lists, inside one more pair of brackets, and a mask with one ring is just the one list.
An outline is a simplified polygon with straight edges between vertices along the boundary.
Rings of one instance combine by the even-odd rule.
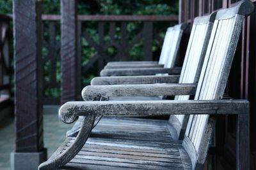
[[[60, 15], [42, 15], [42, 20], [60, 20]], [[177, 15], [77, 15], [81, 21], [178, 21]]]

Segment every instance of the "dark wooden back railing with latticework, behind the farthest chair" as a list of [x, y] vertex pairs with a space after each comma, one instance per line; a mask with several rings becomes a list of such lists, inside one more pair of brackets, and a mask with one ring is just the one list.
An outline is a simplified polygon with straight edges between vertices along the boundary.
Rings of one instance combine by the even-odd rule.
[[[60, 15], [42, 15], [42, 20], [44, 103], [59, 104]], [[77, 81], [81, 87], [88, 85], [110, 60], [157, 60], [166, 28], [177, 22], [178, 17], [173, 15], [78, 15], [77, 55], [81, 78]]]

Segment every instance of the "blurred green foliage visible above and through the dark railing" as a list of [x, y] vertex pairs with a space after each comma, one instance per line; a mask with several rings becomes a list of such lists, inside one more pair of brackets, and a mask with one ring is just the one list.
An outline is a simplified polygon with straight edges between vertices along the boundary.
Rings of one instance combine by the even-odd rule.
[[[90, 0], [82, 1], [77, 0], [77, 14], [79, 15], [177, 15], [179, 11], [179, 1], [173, 0]], [[0, 1], [0, 14], [12, 13], [12, 0]], [[42, 0], [42, 13], [43, 14], [56, 14], [60, 15], [60, 0]], [[60, 43], [60, 22], [56, 22], [56, 43]], [[90, 38], [99, 43], [98, 25], [97, 22], [83, 22], [83, 32], [86, 32]], [[170, 26], [168, 22], [158, 22], [154, 24], [154, 29], [161, 38], [164, 38], [166, 27]], [[116, 23], [115, 41], [120, 41], [121, 25]], [[142, 22], [127, 22], [127, 39], [128, 43], [131, 43], [134, 36], [143, 29]], [[44, 21], [44, 40], [49, 42], [49, 22]], [[106, 36], [104, 36], [104, 42], [108, 43], [110, 40], [108, 31], [109, 24], [105, 24], [104, 30]], [[154, 39], [152, 51], [154, 53], [154, 59], [159, 57], [161, 50], [161, 43]], [[59, 53], [59, 52], [57, 52]], [[114, 57], [118, 51], [114, 46], [110, 46], [106, 49], [106, 53], [109, 57]], [[49, 54], [49, 51], [45, 46], [42, 48], [42, 56], [45, 58]], [[82, 66], [85, 66], [93, 56], [97, 54], [96, 50], [89, 45], [89, 43], [81, 38], [81, 57]], [[132, 46], [129, 51], [129, 55], [132, 60], [141, 60], [143, 56], [143, 39], [138, 41]], [[56, 56], [54, 56], [56, 57]], [[56, 62], [56, 81], [61, 81], [61, 66], [60, 61]], [[90, 83], [90, 80], [94, 76], [97, 76], [99, 70], [97, 69], [98, 63], [95, 62], [92, 69], [82, 75], [82, 83]], [[44, 81], [50, 83], [51, 81], [51, 62], [45, 62], [44, 66]], [[61, 94], [60, 88], [47, 88], [44, 89], [45, 97], [59, 97]]]

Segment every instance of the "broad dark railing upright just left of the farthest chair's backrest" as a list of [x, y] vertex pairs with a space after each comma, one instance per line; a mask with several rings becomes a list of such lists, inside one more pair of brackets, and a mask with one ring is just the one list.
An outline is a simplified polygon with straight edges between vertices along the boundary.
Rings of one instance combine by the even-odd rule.
[[143, 60], [152, 60], [153, 22], [144, 22]]

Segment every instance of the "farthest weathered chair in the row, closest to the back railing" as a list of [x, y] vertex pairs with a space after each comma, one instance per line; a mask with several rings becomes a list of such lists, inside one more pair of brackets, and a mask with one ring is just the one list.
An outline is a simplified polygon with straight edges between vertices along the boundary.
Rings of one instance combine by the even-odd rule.
[[[180, 41], [187, 24], [179, 24], [171, 27], [166, 32], [159, 63], [148, 62], [116, 62], [108, 63], [105, 69], [100, 71], [100, 76], [129, 76], [129, 75], [153, 75], [160, 73], [180, 74], [180, 67], [174, 67], [179, 52]], [[115, 64], [113, 64], [115, 63]]]

